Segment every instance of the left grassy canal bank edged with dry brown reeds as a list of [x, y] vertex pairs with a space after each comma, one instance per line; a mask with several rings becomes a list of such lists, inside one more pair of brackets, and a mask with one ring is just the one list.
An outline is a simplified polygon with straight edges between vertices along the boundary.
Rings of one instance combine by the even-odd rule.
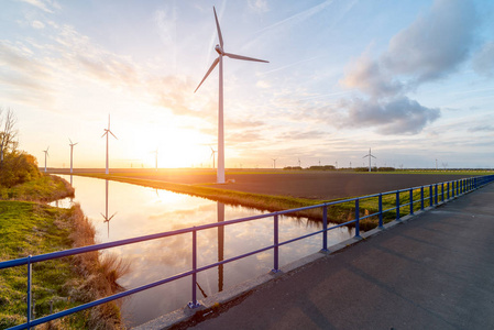
[[[11, 189], [2, 189], [10, 200], [0, 200], [0, 261], [25, 257], [95, 244], [95, 229], [79, 206], [58, 209], [34, 201], [73, 195], [67, 184], [48, 176]], [[117, 279], [129, 265], [114, 256], [97, 252], [79, 254], [33, 265], [33, 315], [40, 318], [122, 288]], [[0, 329], [26, 321], [26, 266], [0, 271]], [[40, 329], [120, 329], [120, 308], [109, 302]], [[39, 329], [36, 328], [36, 329]]]

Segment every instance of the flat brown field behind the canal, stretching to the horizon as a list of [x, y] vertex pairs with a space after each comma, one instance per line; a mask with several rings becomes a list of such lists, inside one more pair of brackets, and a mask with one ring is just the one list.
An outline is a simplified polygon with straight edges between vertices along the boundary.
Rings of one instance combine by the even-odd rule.
[[[54, 169], [53, 173], [68, 174]], [[77, 169], [75, 174], [95, 174], [99, 177], [105, 169]], [[217, 185], [213, 169], [111, 169], [116, 177], [185, 184], [250, 194], [289, 196], [312, 200], [332, 200], [370, 194], [419, 187], [449, 182], [487, 173], [477, 172], [394, 172], [355, 173], [329, 170], [275, 170], [275, 169], [231, 169], [226, 177], [229, 183]], [[231, 180], [234, 180], [231, 182]]]

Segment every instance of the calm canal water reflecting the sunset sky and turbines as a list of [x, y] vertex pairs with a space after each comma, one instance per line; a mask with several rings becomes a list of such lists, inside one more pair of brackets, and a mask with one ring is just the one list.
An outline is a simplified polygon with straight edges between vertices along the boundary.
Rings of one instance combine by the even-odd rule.
[[[52, 204], [69, 207], [79, 202], [96, 228], [98, 243], [118, 241], [206, 223], [266, 213], [252, 208], [223, 205], [209, 199], [167, 190], [103, 179], [62, 176], [73, 182], [74, 200]], [[307, 218], [281, 217], [279, 242], [321, 229], [321, 223]], [[353, 235], [345, 227], [328, 233], [328, 244]], [[198, 267], [273, 244], [273, 218], [209, 229], [197, 234]], [[321, 249], [321, 234], [279, 248], [279, 265], [301, 258]], [[134, 288], [191, 270], [191, 233], [106, 250], [127, 260], [131, 271], [119, 279], [125, 289]], [[197, 275], [197, 298], [213, 295], [228, 287], [268, 273], [273, 252], [262, 252], [240, 261], [211, 268]], [[128, 327], [134, 327], [191, 301], [191, 277], [135, 294], [122, 304]]]

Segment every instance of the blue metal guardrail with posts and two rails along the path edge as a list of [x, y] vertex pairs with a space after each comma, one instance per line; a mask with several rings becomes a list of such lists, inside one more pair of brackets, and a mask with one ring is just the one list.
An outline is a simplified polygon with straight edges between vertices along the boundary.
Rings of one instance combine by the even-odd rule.
[[[305, 239], [305, 238], [309, 238], [319, 233], [323, 234], [323, 244], [322, 244], [322, 251], [327, 251], [327, 232], [330, 230], [333, 230], [336, 228], [340, 228], [343, 226], [348, 226], [351, 223], [355, 223], [355, 237], [360, 238], [360, 229], [359, 229], [359, 223], [361, 220], [366, 219], [366, 218], [371, 218], [371, 217], [380, 217], [380, 223], [378, 223], [378, 228], [383, 228], [383, 213], [387, 212], [387, 211], [392, 211], [392, 210], [396, 210], [396, 220], [400, 220], [399, 219], [399, 209], [402, 207], [405, 206], [410, 206], [410, 215], [414, 213], [414, 204], [416, 202], [420, 202], [420, 209], [422, 210], [425, 207], [425, 200], [426, 198], [424, 197], [424, 188], [425, 187], [429, 187], [429, 196], [427, 197], [427, 199], [429, 199], [429, 206], [433, 206], [433, 205], [438, 205], [438, 197], [439, 194], [441, 194], [441, 202], [444, 202], [444, 200], [450, 200], [452, 198], [455, 198], [458, 196], [460, 196], [461, 194], [465, 194], [468, 191], [477, 189], [482, 186], [485, 186], [486, 184], [491, 183], [494, 180], [494, 175], [485, 175], [485, 176], [476, 176], [476, 177], [469, 177], [469, 178], [461, 178], [458, 180], [449, 180], [449, 182], [442, 182], [442, 183], [437, 183], [437, 184], [430, 184], [430, 185], [424, 185], [424, 186], [417, 186], [417, 187], [411, 187], [411, 188], [406, 188], [406, 189], [397, 189], [397, 190], [391, 190], [391, 191], [386, 191], [386, 193], [380, 193], [380, 194], [373, 194], [373, 195], [365, 195], [365, 196], [361, 196], [361, 197], [353, 197], [353, 198], [348, 198], [348, 199], [341, 199], [341, 200], [334, 200], [334, 201], [328, 201], [328, 202], [322, 202], [322, 204], [318, 204], [318, 205], [314, 205], [314, 206], [307, 206], [307, 207], [300, 207], [300, 208], [295, 208], [295, 209], [289, 209], [289, 210], [284, 210], [284, 211], [275, 211], [275, 212], [270, 212], [270, 213], [263, 213], [263, 215], [257, 215], [257, 216], [252, 216], [252, 217], [245, 217], [245, 218], [240, 218], [240, 219], [233, 219], [233, 220], [227, 220], [227, 221], [222, 221], [222, 222], [213, 222], [213, 223], [207, 223], [207, 224], [201, 224], [201, 226], [197, 226], [197, 227], [191, 227], [191, 228], [184, 228], [184, 229], [178, 229], [178, 230], [174, 230], [174, 231], [167, 231], [167, 232], [161, 232], [161, 233], [155, 233], [155, 234], [149, 234], [149, 235], [142, 235], [142, 237], [136, 237], [136, 238], [131, 238], [131, 239], [124, 239], [124, 240], [119, 240], [119, 241], [113, 241], [113, 242], [107, 242], [107, 243], [100, 243], [100, 244], [95, 244], [95, 245], [88, 245], [88, 246], [81, 246], [81, 248], [75, 248], [75, 249], [69, 249], [69, 250], [64, 250], [64, 251], [57, 251], [57, 252], [52, 252], [52, 253], [46, 253], [46, 254], [40, 254], [40, 255], [34, 255], [34, 256], [28, 256], [28, 257], [21, 257], [21, 258], [17, 258], [17, 260], [11, 260], [11, 261], [4, 261], [4, 262], [0, 262], [0, 270], [2, 268], [9, 268], [9, 267], [14, 267], [14, 266], [21, 266], [21, 265], [28, 265], [29, 266], [29, 272], [28, 272], [28, 301], [31, 301], [31, 267], [32, 264], [34, 263], [39, 263], [42, 261], [48, 261], [48, 260], [54, 260], [54, 258], [59, 258], [59, 257], [64, 257], [64, 256], [69, 256], [69, 255], [76, 255], [76, 254], [80, 254], [80, 253], [87, 253], [87, 252], [92, 252], [92, 251], [99, 251], [99, 250], [106, 250], [106, 249], [110, 249], [110, 248], [116, 248], [116, 246], [121, 246], [121, 245], [128, 245], [128, 244], [133, 244], [133, 243], [139, 243], [139, 242], [144, 242], [144, 241], [150, 241], [150, 240], [156, 240], [156, 239], [162, 239], [162, 238], [166, 238], [166, 237], [173, 237], [173, 235], [178, 235], [178, 234], [185, 234], [185, 233], [193, 233], [193, 270], [188, 271], [188, 272], [184, 272], [180, 274], [175, 274], [174, 276], [169, 276], [167, 278], [163, 278], [160, 279], [157, 282], [154, 283], [150, 283], [133, 289], [129, 289], [125, 290], [123, 293], [119, 293], [112, 296], [108, 296], [91, 302], [87, 302], [84, 305], [79, 305], [77, 307], [73, 307], [63, 311], [58, 311], [55, 314], [52, 314], [50, 316], [45, 316], [35, 320], [31, 320], [31, 306], [28, 307], [28, 322], [23, 323], [23, 324], [19, 324], [15, 327], [12, 327], [10, 329], [28, 329], [30, 327], [34, 327], [36, 324], [41, 324], [67, 315], [70, 315], [73, 312], [76, 311], [80, 311], [87, 308], [91, 308], [105, 302], [109, 302], [119, 298], [123, 298], [125, 296], [130, 296], [133, 295], [135, 293], [158, 286], [158, 285], [163, 285], [165, 283], [169, 283], [173, 280], [176, 280], [178, 278], [183, 278], [186, 276], [193, 276], [195, 277], [197, 273], [216, 267], [218, 265], [222, 265], [232, 261], [237, 261], [260, 252], [264, 252], [271, 249], [274, 249], [275, 251], [275, 256], [274, 256], [274, 270], [273, 272], [277, 272], [278, 271], [278, 252], [277, 249], [282, 245]], [[450, 185], [451, 184], [451, 185]], [[438, 186], [441, 186], [441, 191], [439, 193], [438, 190]], [[447, 198], [444, 199], [444, 185], [447, 185]], [[451, 186], [451, 189], [450, 189]], [[432, 189], [432, 187], [435, 187], [435, 189]], [[413, 191], [420, 189], [420, 199], [413, 199]], [[400, 193], [405, 193], [405, 191], [409, 191], [409, 202], [405, 202], [405, 204], [400, 204], [399, 202], [399, 194]], [[450, 193], [451, 191], [451, 198], [450, 198]], [[435, 193], [435, 195], [432, 195], [432, 193]], [[386, 195], [392, 195], [395, 194], [396, 195], [396, 206], [389, 209], [385, 209], [383, 210], [382, 208], [382, 197], [386, 196]], [[359, 202], [360, 200], [363, 199], [369, 199], [369, 198], [374, 198], [374, 197], [378, 197], [378, 211], [374, 212], [372, 215], [367, 215], [367, 216], [360, 216], [360, 206]], [[344, 223], [339, 223], [336, 226], [332, 226], [330, 228], [327, 227], [327, 209], [330, 206], [334, 206], [334, 205], [339, 205], [339, 204], [344, 204], [344, 202], [352, 202], [354, 201], [355, 204], [355, 219], [347, 221]], [[289, 215], [289, 213], [295, 213], [295, 212], [299, 212], [299, 211], [305, 211], [305, 210], [309, 210], [309, 209], [316, 209], [316, 208], [322, 208], [323, 209], [323, 228], [322, 230], [318, 230], [315, 232], [311, 232], [309, 234], [305, 234], [301, 237], [297, 237], [287, 241], [283, 241], [283, 242], [278, 242], [278, 217], [283, 216], [283, 215]], [[224, 226], [230, 226], [230, 224], [235, 224], [235, 223], [241, 223], [241, 222], [245, 222], [245, 221], [252, 221], [252, 220], [259, 220], [259, 219], [265, 219], [265, 218], [274, 218], [274, 243], [261, 249], [257, 249], [255, 251], [251, 251], [241, 255], [237, 255], [233, 256], [231, 258], [227, 258], [217, 263], [212, 263], [212, 264], [208, 264], [201, 267], [196, 267], [196, 233], [197, 231], [201, 231], [201, 230], [206, 230], [206, 229], [211, 229], [211, 228], [218, 228], [218, 227], [224, 227]], [[193, 302], [189, 302], [190, 307], [196, 307], [197, 306], [197, 301], [196, 301], [196, 292], [195, 292], [195, 284], [193, 284]], [[31, 302], [29, 302], [28, 305], [31, 305]]]

